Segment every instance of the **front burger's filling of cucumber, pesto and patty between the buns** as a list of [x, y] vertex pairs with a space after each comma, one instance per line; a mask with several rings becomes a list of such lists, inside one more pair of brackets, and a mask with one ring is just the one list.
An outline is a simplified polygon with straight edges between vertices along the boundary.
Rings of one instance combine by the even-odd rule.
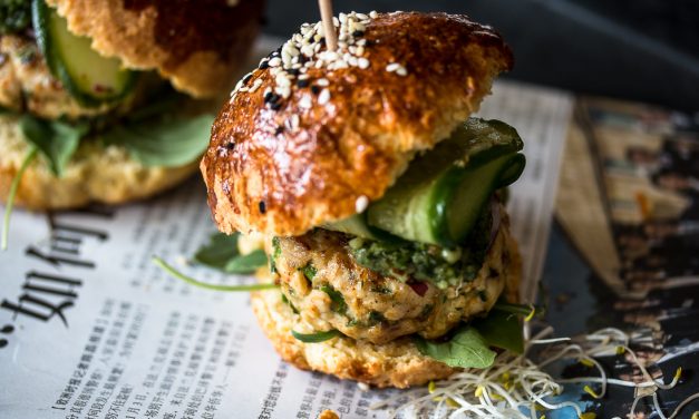
[[271, 271], [303, 329], [297, 339], [314, 337], [309, 331], [372, 343], [414, 335], [438, 358], [435, 345], [464, 331], [478, 334], [470, 324], [506, 305], [502, 293], [515, 275], [501, 191], [521, 175], [522, 148], [512, 127], [472, 118], [415, 158], [363, 212], [302, 236], [273, 237]]

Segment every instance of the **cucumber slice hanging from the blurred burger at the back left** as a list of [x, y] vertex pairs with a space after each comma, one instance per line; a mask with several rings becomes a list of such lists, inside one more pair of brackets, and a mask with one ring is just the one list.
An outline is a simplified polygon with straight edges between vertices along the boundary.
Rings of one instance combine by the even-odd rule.
[[134, 87], [136, 74], [122, 68], [117, 58], [106, 58], [90, 48], [90, 40], [68, 31], [66, 19], [45, 0], [32, 2], [33, 28], [51, 74], [84, 106], [124, 98]]

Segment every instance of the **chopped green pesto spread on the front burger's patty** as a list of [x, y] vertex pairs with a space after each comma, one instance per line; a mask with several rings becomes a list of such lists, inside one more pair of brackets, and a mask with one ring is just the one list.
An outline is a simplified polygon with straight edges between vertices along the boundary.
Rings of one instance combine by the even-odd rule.
[[439, 246], [418, 242], [378, 242], [352, 238], [349, 251], [362, 266], [385, 276], [401, 281], [429, 281], [440, 289], [473, 281], [485, 259], [491, 235], [491, 214], [483, 214], [467, 246], [460, 246], [460, 257], [455, 262], [445, 259]]

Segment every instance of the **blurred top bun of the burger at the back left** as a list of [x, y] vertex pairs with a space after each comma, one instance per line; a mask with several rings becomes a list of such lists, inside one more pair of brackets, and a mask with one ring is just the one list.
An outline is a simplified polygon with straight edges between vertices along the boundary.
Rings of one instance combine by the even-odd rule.
[[214, 97], [231, 85], [258, 35], [264, 1], [47, 0], [71, 32], [132, 69], [157, 70], [179, 90]]

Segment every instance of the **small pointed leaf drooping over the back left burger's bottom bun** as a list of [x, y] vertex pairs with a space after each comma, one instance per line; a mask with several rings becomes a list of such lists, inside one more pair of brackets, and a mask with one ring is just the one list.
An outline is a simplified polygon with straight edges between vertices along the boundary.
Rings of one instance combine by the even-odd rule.
[[59, 120], [38, 119], [27, 114], [20, 117], [19, 126], [25, 138], [37, 146], [54, 175], [58, 177], [62, 176], [80, 138], [89, 130], [89, 125], [85, 123], [70, 125]]

